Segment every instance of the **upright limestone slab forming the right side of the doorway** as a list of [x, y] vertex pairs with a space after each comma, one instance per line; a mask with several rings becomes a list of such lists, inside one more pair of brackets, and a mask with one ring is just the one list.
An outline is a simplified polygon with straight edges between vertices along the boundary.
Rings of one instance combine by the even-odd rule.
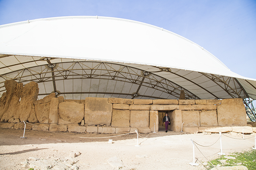
[[182, 111], [175, 110], [170, 115], [171, 125], [170, 129], [174, 132], [180, 132], [182, 130]]

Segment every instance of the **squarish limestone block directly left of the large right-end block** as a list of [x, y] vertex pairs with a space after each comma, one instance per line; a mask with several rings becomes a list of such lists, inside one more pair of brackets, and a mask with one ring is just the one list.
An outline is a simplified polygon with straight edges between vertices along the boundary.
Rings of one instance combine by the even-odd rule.
[[201, 126], [217, 126], [217, 111], [202, 111], [200, 113]]

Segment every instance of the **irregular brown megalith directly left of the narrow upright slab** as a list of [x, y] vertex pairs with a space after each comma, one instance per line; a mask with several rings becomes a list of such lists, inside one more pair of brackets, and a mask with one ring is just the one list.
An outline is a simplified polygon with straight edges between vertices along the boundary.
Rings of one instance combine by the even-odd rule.
[[34, 102], [36, 117], [40, 123], [48, 123], [50, 103], [54, 97], [55, 93], [52, 93]]

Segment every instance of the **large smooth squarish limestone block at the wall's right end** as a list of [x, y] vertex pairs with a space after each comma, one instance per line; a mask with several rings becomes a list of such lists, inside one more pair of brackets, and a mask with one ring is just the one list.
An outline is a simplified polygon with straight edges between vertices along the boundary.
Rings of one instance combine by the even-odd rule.
[[220, 126], [246, 126], [246, 111], [242, 99], [223, 99], [217, 107]]

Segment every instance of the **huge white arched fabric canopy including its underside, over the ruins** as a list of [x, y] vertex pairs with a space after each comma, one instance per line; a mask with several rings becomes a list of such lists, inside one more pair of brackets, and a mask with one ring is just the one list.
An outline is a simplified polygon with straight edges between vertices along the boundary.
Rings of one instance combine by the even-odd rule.
[[[142, 22], [99, 16], [0, 26], [4, 81], [39, 84], [39, 98], [256, 99], [256, 80], [229, 70], [182, 36]], [[57, 94], [57, 93], [56, 93]]]

